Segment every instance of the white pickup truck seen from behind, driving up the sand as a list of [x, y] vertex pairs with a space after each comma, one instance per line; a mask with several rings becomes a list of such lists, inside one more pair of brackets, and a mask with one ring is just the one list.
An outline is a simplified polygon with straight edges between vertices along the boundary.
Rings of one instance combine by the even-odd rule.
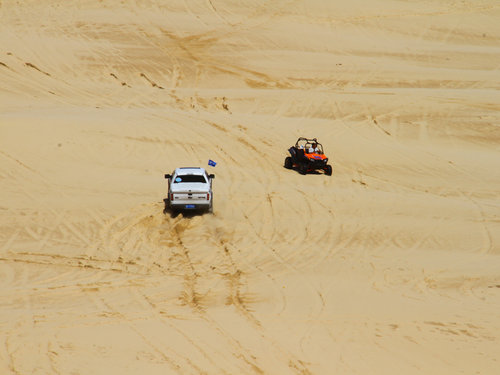
[[169, 207], [172, 211], [213, 211], [213, 174], [208, 174], [200, 167], [184, 167], [175, 169], [172, 174], [166, 174], [165, 178], [168, 179], [166, 208]]

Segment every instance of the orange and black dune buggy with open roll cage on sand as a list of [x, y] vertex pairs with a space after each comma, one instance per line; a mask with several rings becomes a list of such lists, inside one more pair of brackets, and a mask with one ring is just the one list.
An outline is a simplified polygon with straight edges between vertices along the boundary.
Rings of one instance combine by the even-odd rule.
[[332, 166], [323, 152], [323, 145], [316, 138], [300, 137], [295, 146], [288, 149], [290, 156], [285, 158], [285, 168], [296, 169], [300, 174], [321, 170], [332, 175]]

